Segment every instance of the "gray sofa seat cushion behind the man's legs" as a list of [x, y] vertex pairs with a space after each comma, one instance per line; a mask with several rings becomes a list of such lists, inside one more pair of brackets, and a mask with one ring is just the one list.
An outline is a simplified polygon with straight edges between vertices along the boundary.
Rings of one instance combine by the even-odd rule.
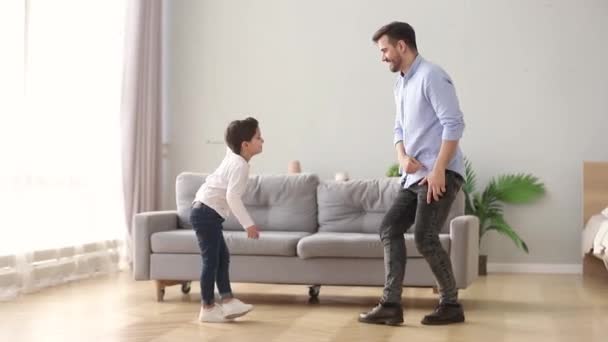
[[[450, 236], [439, 234], [441, 246], [449, 253]], [[408, 257], [422, 257], [413, 234], [405, 234]], [[321, 232], [298, 242], [298, 256], [308, 258], [383, 258], [384, 248], [378, 234]]]

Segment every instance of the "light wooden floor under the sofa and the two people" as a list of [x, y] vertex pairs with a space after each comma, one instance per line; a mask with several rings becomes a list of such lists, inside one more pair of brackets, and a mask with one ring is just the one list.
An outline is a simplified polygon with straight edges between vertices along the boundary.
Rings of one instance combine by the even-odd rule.
[[322, 287], [308, 304], [297, 285], [234, 284], [255, 309], [240, 321], [200, 324], [198, 283], [155, 301], [152, 282], [127, 273], [80, 281], [0, 303], [0, 341], [608, 341], [608, 283], [577, 275], [490, 275], [461, 291], [464, 324], [428, 327], [430, 289], [405, 289], [405, 325], [357, 322], [378, 287]]

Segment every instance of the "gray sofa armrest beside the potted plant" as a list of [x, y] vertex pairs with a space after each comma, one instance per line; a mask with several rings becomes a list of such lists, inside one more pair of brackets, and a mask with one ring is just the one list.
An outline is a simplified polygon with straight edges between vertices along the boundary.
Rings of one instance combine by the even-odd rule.
[[479, 219], [476, 216], [458, 216], [450, 222], [450, 259], [456, 287], [464, 289], [478, 276]]

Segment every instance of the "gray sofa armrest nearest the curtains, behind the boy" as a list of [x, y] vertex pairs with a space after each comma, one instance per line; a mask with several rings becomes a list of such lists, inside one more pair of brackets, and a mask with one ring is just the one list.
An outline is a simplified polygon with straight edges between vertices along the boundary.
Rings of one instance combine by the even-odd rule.
[[150, 279], [150, 236], [177, 229], [177, 211], [150, 211], [133, 217], [133, 278]]

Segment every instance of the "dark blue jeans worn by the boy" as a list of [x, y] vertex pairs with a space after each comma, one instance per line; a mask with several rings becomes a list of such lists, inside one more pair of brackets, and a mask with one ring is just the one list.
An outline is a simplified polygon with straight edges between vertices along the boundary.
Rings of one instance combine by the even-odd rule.
[[198, 246], [203, 258], [203, 269], [201, 271], [203, 304], [211, 305], [214, 303], [216, 283], [222, 298], [232, 298], [229, 275], [230, 252], [222, 233], [224, 218], [205, 204], [195, 202], [192, 205], [190, 222], [196, 232]]

